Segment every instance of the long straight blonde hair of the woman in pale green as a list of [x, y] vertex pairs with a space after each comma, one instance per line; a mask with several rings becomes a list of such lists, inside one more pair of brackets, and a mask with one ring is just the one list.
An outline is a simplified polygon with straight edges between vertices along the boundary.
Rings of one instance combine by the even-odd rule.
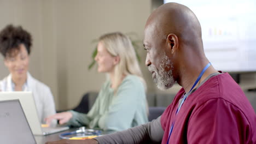
[[[110, 55], [119, 56], [120, 58], [119, 63], [114, 67], [115, 77], [112, 85], [117, 86], [118, 88], [121, 80], [123, 79], [123, 75], [131, 74], [141, 78], [146, 90], [146, 82], [143, 79], [135, 49], [133, 48], [129, 37], [120, 32], [108, 33], [102, 35], [99, 42], [106, 47]], [[114, 90], [116, 91], [117, 89]]]

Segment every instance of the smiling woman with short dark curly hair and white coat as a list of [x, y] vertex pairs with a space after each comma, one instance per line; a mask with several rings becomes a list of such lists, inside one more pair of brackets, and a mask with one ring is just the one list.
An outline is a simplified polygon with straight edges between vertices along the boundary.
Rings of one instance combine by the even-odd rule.
[[44, 118], [54, 115], [56, 111], [50, 88], [28, 73], [31, 45], [31, 34], [21, 26], [8, 25], [2, 29], [0, 32], [0, 52], [4, 57], [4, 65], [10, 74], [0, 81], [0, 91], [31, 91], [36, 102], [40, 122], [44, 123]]

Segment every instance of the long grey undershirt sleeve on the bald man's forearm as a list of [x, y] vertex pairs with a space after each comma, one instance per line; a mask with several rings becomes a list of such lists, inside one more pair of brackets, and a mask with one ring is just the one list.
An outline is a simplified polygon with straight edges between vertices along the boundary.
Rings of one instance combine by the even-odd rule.
[[94, 138], [100, 144], [104, 143], [161, 143], [164, 130], [161, 126], [161, 116], [138, 127], [133, 127], [113, 134]]

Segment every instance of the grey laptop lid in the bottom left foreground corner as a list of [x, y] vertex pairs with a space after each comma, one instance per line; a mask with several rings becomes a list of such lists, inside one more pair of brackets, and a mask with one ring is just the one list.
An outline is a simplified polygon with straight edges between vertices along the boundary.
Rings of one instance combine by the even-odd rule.
[[36, 143], [18, 99], [0, 101], [0, 127], [1, 143]]

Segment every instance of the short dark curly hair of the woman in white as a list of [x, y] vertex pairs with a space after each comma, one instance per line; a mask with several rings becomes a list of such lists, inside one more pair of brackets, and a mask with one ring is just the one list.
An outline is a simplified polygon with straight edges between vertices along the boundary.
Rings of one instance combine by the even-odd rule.
[[7, 25], [0, 32], [0, 52], [4, 57], [14, 50], [19, 50], [20, 44], [24, 44], [28, 55], [32, 45], [31, 34], [25, 31], [21, 26]]

